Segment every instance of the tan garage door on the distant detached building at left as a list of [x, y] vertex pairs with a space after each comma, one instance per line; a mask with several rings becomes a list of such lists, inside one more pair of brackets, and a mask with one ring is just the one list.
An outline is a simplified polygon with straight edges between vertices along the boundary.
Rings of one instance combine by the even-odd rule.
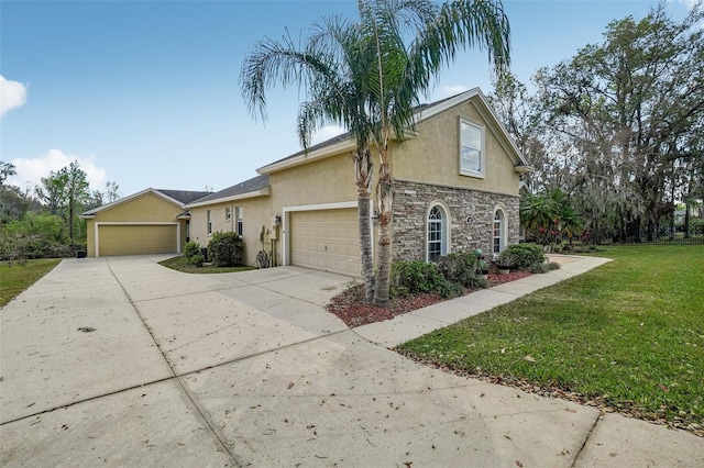
[[98, 255], [148, 255], [178, 252], [176, 224], [98, 226]]

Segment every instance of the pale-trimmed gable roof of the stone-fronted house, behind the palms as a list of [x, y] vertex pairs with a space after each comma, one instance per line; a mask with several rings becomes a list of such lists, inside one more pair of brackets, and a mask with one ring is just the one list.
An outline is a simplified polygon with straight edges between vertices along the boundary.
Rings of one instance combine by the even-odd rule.
[[[448, 109], [459, 105], [463, 102], [466, 102], [473, 98], [477, 98], [477, 101], [481, 108], [479, 109], [480, 113], [487, 121], [487, 123], [490, 124], [490, 127], [492, 127], [494, 133], [496, 133], [497, 136], [499, 137], [499, 143], [502, 144], [502, 146], [504, 146], [504, 149], [508, 153], [516, 168], [517, 169], [521, 167], [529, 168], [530, 166], [528, 165], [526, 159], [524, 159], [522, 155], [520, 154], [520, 151], [516, 146], [516, 143], [513, 141], [513, 138], [510, 137], [510, 135], [508, 134], [504, 125], [498, 120], [498, 116], [496, 115], [492, 107], [488, 104], [486, 97], [484, 96], [484, 93], [480, 88], [473, 88], [473, 89], [470, 89], [469, 91], [464, 91], [459, 94], [451, 96], [449, 98], [444, 98], [431, 103], [425, 103], [425, 104], [418, 105], [416, 108], [415, 122], [416, 123], [422, 122], [424, 120], [430, 119], [433, 115], [444, 112]], [[356, 147], [356, 143], [354, 142], [352, 134], [350, 132], [346, 132], [341, 135], [333, 136], [332, 138], [327, 140], [322, 143], [314, 145], [310, 148], [308, 148], [307, 152], [304, 149], [304, 151], [294, 153], [293, 155], [287, 156], [283, 159], [278, 159], [272, 164], [263, 166], [256, 169], [256, 171], [260, 174], [271, 174], [288, 167], [306, 164], [315, 159], [332, 156], [333, 154], [345, 151], [345, 149], [353, 151], [355, 147]]]

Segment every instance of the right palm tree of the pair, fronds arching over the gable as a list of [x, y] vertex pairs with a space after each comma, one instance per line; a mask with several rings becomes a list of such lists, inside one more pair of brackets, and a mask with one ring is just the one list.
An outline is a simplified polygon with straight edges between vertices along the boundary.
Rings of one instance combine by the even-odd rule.
[[365, 36], [373, 37], [376, 67], [370, 76], [373, 92], [372, 137], [378, 152], [377, 274], [374, 303], [389, 299], [391, 223], [394, 204], [391, 172], [392, 138], [403, 141], [414, 129], [415, 109], [442, 66], [460, 48], [486, 48], [497, 74], [509, 65], [509, 25], [501, 0], [454, 0], [441, 7], [429, 0], [360, 1]]

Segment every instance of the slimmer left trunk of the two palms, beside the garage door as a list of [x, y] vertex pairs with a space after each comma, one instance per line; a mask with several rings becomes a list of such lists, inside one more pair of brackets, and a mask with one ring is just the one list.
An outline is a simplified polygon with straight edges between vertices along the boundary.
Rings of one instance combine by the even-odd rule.
[[370, 213], [372, 153], [369, 146], [360, 148], [353, 158], [354, 171], [356, 174], [360, 255], [362, 260], [362, 279], [364, 280], [364, 299], [371, 302], [374, 298], [374, 258], [372, 256], [372, 216]]

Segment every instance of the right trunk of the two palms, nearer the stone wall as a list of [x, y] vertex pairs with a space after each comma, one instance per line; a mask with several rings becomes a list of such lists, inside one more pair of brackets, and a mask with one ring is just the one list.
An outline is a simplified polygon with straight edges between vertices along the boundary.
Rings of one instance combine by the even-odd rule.
[[392, 207], [394, 204], [394, 186], [388, 170], [386, 151], [381, 151], [382, 164], [376, 183], [376, 203], [378, 205], [378, 253], [374, 304], [385, 305], [389, 298], [389, 276], [392, 268]]

